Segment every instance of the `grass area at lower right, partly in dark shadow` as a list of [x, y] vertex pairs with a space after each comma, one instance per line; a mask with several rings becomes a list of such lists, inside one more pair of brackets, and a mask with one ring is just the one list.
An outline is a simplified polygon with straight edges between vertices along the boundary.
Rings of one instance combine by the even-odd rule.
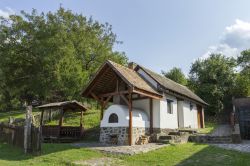
[[205, 144], [171, 145], [146, 154], [121, 157], [126, 165], [247, 166], [250, 154]]

